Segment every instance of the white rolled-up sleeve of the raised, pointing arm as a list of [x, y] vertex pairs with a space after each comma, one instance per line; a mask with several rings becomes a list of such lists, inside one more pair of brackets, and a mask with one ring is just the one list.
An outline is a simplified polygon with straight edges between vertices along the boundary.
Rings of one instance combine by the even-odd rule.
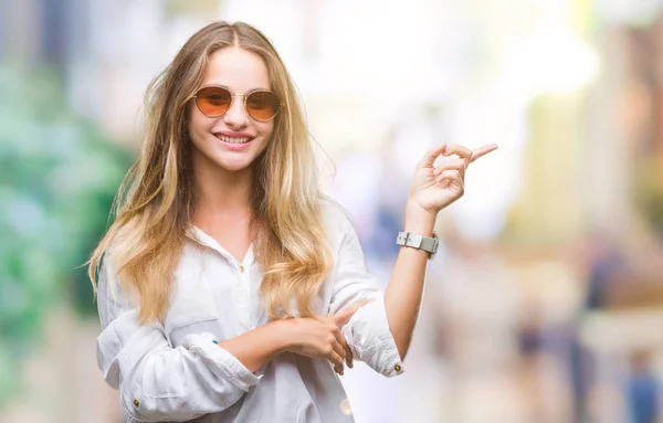
[[403, 364], [387, 321], [382, 288], [368, 273], [357, 233], [346, 221], [333, 274], [329, 314], [362, 299], [371, 302], [359, 308], [341, 328], [348, 347], [356, 359], [386, 377], [402, 373]]

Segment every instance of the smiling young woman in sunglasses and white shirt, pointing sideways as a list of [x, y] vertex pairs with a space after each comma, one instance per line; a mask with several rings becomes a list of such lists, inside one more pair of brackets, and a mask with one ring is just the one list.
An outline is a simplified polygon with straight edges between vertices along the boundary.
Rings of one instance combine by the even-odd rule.
[[[98, 363], [127, 420], [352, 421], [336, 373], [352, 359], [403, 371], [435, 215], [496, 146], [425, 154], [383, 294], [320, 193], [293, 83], [261, 32], [201, 29], [150, 85], [146, 112], [90, 263]], [[459, 158], [435, 168], [440, 155]]]

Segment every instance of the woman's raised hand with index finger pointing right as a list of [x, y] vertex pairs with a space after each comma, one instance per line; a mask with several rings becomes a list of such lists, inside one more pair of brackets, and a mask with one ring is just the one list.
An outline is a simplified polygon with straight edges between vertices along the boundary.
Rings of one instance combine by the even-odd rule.
[[[436, 215], [446, 205], [460, 199], [465, 192], [465, 171], [471, 162], [497, 149], [488, 144], [471, 150], [466, 147], [443, 144], [430, 148], [417, 165], [410, 187], [411, 205]], [[445, 161], [438, 167], [438, 157], [456, 155], [459, 158]]]

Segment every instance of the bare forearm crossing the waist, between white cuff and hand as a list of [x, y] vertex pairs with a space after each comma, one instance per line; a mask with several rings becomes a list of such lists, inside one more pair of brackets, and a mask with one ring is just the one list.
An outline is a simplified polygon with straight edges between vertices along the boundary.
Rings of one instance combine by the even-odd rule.
[[284, 324], [285, 320], [269, 322], [219, 342], [219, 346], [236, 357], [246, 369], [254, 372], [288, 347]]

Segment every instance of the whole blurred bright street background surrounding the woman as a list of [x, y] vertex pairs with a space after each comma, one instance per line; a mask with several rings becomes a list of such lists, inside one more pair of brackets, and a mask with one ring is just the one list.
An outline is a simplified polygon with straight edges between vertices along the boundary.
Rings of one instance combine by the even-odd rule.
[[663, 422], [661, 0], [0, 1], [0, 422], [120, 421], [78, 266], [148, 82], [217, 19], [281, 52], [385, 284], [425, 148], [499, 145], [440, 214], [406, 373], [346, 372], [357, 422]]

